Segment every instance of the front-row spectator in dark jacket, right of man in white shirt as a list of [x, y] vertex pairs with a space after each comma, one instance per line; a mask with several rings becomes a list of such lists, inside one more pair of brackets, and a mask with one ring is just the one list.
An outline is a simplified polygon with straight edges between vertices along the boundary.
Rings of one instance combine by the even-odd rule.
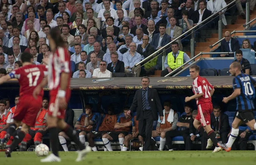
[[107, 70], [112, 73], [125, 73], [125, 63], [118, 60], [118, 54], [116, 52], [111, 54], [111, 61], [107, 66]]

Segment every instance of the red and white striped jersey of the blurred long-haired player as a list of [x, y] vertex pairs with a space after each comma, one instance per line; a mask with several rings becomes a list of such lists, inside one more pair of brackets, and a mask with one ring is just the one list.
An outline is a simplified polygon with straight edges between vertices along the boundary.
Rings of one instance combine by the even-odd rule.
[[[58, 92], [60, 88], [61, 73], [70, 75], [70, 56], [66, 48], [58, 47], [54, 54], [49, 56], [48, 86], [51, 92]], [[66, 80], [67, 87], [70, 86], [70, 76]], [[67, 88], [68, 90], [68, 88]]]

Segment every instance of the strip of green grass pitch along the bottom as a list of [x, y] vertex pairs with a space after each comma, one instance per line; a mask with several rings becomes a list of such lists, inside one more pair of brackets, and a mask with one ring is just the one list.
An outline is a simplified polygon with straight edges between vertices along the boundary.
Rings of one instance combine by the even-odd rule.
[[0, 165], [255, 165], [255, 151], [112, 151], [90, 152], [75, 162], [76, 152], [60, 152], [61, 163], [40, 163], [34, 152], [0, 152]]

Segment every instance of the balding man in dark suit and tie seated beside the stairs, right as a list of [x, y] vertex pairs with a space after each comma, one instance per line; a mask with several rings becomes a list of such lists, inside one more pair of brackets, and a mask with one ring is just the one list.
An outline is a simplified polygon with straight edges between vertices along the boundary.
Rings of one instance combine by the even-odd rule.
[[[231, 37], [230, 31], [225, 32], [225, 39], [221, 41], [221, 52], [235, 52], [239, 50], [238, 40]], [[218, 57], [233, 57], [234, 54], [221, 54]]]

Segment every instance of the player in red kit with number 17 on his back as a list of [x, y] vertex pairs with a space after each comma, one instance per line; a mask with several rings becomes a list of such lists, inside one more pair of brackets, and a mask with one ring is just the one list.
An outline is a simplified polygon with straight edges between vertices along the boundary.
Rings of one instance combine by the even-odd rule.
[[13, 123], [10, 124], [5, 138], [0, 142], [1, 148], [6, 147], [6, 143], [10, 136], [15, 134], [16, 128], [22, 124], [20, 132], [15, 136], [12, 145], [6, 150], [6, 157], [11, 157], [12, 150], [23, 140], [31, 126], [35, 126], [35, 120], [41, 109], [41, 103], [44, 95], [43, 88], [40, 88], [38, 98], [33, 97], [33, 91], [38, 84], [41, 83], [47, 74], [45, 65], [32, 64], [33, 56], [29, 53], [23, 53], [20, 57], [22, 67], [13, 70], [6, 76], [0, 78], [0, 84], [11, 78], [17, 78], [20, 84], [20, 99], [17, 103]]

